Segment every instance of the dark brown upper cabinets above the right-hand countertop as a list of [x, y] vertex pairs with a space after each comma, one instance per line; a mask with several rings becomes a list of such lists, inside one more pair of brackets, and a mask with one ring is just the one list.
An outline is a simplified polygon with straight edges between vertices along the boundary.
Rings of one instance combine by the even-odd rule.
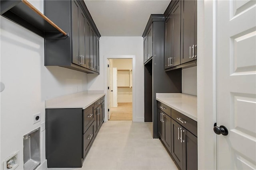
[[164, 68], [166, 71], [196, 66], [196, 0], [171, 1], [164, 12]]

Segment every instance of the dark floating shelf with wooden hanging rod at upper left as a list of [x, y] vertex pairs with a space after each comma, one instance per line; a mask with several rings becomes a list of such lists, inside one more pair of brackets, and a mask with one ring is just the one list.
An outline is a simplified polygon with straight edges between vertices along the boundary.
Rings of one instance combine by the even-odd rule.
[[45, 37], [47, 33], [54, 33], [58, 37], [68, 37], [60, 27], [48, 19], [27, 0], [1, 0], [1, 15], [21, 25], [22, 27]]

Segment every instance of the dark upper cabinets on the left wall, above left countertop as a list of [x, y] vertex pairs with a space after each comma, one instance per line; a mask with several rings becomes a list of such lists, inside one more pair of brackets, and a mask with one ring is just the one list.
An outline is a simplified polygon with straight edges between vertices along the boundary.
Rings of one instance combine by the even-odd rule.
[[45, 66], [62, 66], [99, 74], [97, 42], [100, 33], [84, 1], [44, 1], [44, 13], [68, 32], [66, 37], [50, 33], [45, 36]]

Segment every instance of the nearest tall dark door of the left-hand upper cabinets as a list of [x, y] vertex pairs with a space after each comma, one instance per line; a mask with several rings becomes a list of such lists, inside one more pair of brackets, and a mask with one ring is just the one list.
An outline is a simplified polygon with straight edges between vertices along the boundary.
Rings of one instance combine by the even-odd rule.
[[79, 64], [79, 12], [78, 2], [72, 2], [72, 63]]

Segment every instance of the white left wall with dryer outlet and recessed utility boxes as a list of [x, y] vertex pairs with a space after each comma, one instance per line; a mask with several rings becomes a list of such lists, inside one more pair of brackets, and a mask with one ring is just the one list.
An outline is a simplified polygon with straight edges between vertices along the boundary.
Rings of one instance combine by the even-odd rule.
[[[43, 1], [31, 2], [43, 12]], [[46, 99], [87, 90], [87, 74], [58, 66], [44, 66], [44, 39], [0, 17], [1, 92], [0, 169], [3, 161], [20, 150], [23, 169], [23, 135], [44, 121]], [[33, 114], [41, 122], [33, 125]], [[45, 161], [45, 131], [41, 132], [41, 164]], [[45, 165], [45, 164], [44, 164]], [[42, 167], [43, 168], [43, 167]]]

